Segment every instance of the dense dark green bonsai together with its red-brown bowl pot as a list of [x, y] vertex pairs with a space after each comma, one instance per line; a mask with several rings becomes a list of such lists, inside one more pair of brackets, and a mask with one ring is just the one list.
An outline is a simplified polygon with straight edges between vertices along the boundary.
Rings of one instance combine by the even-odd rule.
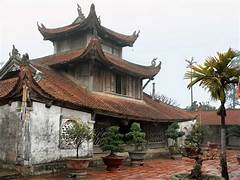
[[116, 153], [124, 150], [123, 143], [123, 134], [119, 133], [118, 126], [111, 126], [104, 133], [100, 148], [103, 151], [110, 151], [108, 156], [102, 157], [108, 171], [119, 170], [120, 165], [122, 165], [125, 157], [118, 156]]

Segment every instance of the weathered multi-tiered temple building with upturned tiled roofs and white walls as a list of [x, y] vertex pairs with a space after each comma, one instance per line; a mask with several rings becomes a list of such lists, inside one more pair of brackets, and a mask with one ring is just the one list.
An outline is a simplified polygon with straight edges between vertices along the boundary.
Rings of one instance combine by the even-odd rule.
[[171, 122], [193, 119], [143, 92], [161, 63], [154, 59], [143, 66], [123, 59], [123, 48], [133, 46], [139, 32], [124, 35], [104, 27], [93, 4], [87, 17], [78, 6], [78, 17], [68, 26], [41, 24], [38, 30], [53, 43], [54, 54], [29, 59], [13, 46], [0, 70], [1, 162], [34, 172], [39, 164], [74, 156], [74, 144], [64, 138], [73, 121], [95, 130], [94, 141], [80, 149], [85, 156], [111, 125], [126, 133], [132, 122], [140, 122], [149, 147], [161, 147]]

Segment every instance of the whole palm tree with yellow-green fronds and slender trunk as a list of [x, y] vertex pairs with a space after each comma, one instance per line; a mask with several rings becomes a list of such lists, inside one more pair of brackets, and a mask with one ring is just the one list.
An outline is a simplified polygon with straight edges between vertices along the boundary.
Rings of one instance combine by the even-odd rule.
[[229, 49], [226, 53], [217, 53], [216, 57], [209, 57], [203, 65], [192, 67], [192, 72], [185, 74], [186, 79], [191, 79], [188, 88], [199, 83], [199, 86], [206, 89], [213, 100], [218, 100], [221, 105], [217, 114], [221, 117], [221, 168], [222, 177], [229, 179], [226, 159], [226, 92], [231, 88], [231, 84], [238, 83], [240, 71], [236, 67], [231, 67], [231, 60], [237, 56], [237, 52]]

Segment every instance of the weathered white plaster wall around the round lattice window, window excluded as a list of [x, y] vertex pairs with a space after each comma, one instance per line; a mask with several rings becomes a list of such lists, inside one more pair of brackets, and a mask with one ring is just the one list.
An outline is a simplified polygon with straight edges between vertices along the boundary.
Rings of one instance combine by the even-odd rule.
[[[60, 119], [77, 118], [91, 123], [91, 114], [71, 109], [33, 102], [33, 111], [30, 113], [31, 136], [31, 164], [45, 163], [60, 160], [65, 157], [76, 156], [75, 149], [60, 149]], [[93, 126], [92, 126], [93, 128]], [[93, 145], [84, 143], [79, 150], [80, 156], [92, 153]]]

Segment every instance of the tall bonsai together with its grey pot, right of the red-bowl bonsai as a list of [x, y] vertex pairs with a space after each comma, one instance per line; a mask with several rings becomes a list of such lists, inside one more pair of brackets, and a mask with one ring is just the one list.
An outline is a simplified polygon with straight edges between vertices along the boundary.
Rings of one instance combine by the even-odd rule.
[[132, 165], [143, 165], [144, 164], [144, 156], [146, 154], [146, 134], [142, 132], [139, 123], [132, 123], [130, 132], [126, 135], [127, 143], [130, 145], [134, 145], [134, 149], [129, 151], [129, 157], [131, 159]]

